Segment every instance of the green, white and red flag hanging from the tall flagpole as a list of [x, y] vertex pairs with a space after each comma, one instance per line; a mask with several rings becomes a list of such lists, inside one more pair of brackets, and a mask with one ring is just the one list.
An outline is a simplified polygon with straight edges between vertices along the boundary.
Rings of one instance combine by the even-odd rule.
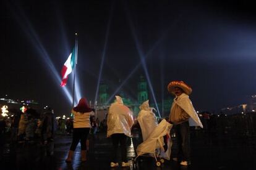
[[66, 86], [67, 84], [67, 77], [69, 74], [74, 70], [75, 67], [75, 48], [73, 51], [69, 54], [69, 57], [67, 58], [66, 62], [64, 63], [62, 70], [61, 70], [61, 87]]

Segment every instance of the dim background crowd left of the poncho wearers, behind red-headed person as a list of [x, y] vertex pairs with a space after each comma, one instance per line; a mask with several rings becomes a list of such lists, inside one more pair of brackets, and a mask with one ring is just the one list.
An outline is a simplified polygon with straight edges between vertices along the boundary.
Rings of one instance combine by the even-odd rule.
[[[11, 109], [11, 111], [10, 118], [0, 119], [0, 132], [10, 134], [11, 142], [32, 143], [38, 139], [44, 140], [45, 136], [72, 134], [74, 129], [74, 119], [56, 119], [53, 110], [49, 107], [41, 114], [33, 108], [25, 109], [25, 111]], [[95, 116], [90, 116], [90, 124], [92, 126], [90, 134], [106, 131], [106, 119], [100, 122]]]

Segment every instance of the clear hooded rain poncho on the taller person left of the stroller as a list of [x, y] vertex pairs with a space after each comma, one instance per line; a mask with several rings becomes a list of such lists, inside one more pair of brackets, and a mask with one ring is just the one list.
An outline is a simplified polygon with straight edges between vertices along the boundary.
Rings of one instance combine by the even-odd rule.
[[116, 95], [116, 100], [108, 110], [108, 132], [107, 137], [112, 134], [125, 134], [132, 137], [130, 128], [134, 124], [132, 111], [124, 105], [122, 98]]

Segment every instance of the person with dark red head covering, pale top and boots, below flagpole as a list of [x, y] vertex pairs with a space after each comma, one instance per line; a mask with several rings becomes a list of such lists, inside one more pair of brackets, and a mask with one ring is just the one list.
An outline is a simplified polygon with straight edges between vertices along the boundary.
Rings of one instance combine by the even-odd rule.
[[73, 129], [73, 140], [70, 146], [69, 155], [67, 156], [66, 163], [72, 161], [75, 148], [80, 141], [81, 144], [81, 160], [86, 161], [86, 140], [90, 132], [91, 123], [90, 115], [94, 115], [92, 108], [89, 107], [88, 102], [85, 98], [79, 100], [76, 107], [72, 109], [72, 114], [74, 115], [74, 129]]

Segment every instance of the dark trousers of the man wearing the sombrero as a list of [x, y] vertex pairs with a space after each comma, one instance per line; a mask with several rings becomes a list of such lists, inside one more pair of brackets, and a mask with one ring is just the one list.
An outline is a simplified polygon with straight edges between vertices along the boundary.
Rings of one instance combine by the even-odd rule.
[[178, 155], [182, 161], [190, 161], [189, 121], [174, 126], [176, 128]]

